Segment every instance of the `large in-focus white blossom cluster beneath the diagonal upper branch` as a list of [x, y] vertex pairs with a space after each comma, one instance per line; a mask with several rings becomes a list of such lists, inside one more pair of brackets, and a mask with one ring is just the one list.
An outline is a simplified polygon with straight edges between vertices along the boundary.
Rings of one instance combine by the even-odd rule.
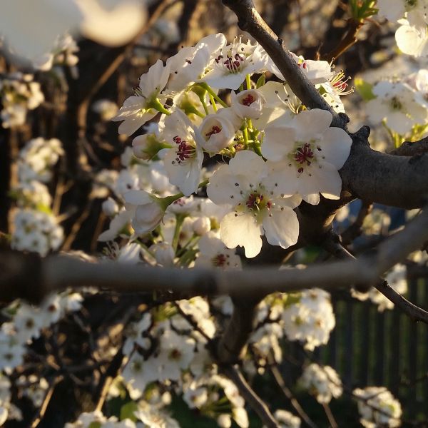
[[[340, 94], [347, 92], [343, 73], [333, 72], [326, 61], [293, 58], [340, 109]], [[152, 233], [167, 207], [197, 195], [208, 178], [208, 199], [225, 210], [218, 230], [226, 248], [241, 246], [253, 258], [263, 235], [282, 248], [297, 243], [293, 209], [302, 200], [316, 205], [320, 194], [340, 197], [337, 171], [349, 156], [351, 139], [330, 127], [330, 112], [307, 110], [287, 83], [266, 83], [267, 72], [283, 80], [260, 45], [241, 39], [228, 44], [215, 34], [181, 49], [166, 64], [158, 60], [141, 76], [135, 95], [113, 118], [122, 121], [119, 133], [131, 136], [161, 115], [133, 139], [140, 172], [121, 195], [121, 226], [128, 216], [135, 236]], [[261, 74], [257, 82], [255, 74]], [[230, 106], [219, 96], [222, 91]], [[204, 161], [215, 156], [230, 161], [205, 173]], [[144, 187], [143, 165], [156, 170], [160, 189], [153, 183]]]

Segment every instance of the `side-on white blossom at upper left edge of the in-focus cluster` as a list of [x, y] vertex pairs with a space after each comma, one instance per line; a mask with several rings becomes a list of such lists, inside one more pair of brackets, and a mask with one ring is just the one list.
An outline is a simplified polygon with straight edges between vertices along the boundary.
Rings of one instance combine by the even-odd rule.
[[119, 133], [131, 136], [140, 126], [158, 114], [155, 107], [161, 108], [159, 100], [165, 98], [161, 91], [165, 88], [168, 77], [169, 67], [164, 66], [160, 59], [140, 77], [136, 95], [126, 98], [118, 114], [111, 119], [123, 121], [119, 126]]

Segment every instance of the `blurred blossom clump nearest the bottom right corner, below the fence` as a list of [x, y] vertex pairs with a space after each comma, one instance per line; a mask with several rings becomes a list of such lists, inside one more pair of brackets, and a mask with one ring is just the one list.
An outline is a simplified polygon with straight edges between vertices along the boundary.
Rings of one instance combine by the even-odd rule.
[[399, 427], [401, 425], [401, 404], [387, 388], [357, 388], [353, 393], [357, 399], [360, 422], [363, 427]]

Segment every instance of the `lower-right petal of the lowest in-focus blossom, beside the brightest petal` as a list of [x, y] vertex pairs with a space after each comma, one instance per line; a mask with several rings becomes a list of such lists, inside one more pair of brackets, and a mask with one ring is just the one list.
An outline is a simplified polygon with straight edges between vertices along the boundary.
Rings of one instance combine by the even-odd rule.
[[299, 220], [291, 208], [271, 210], [270, 215], [263, 219], [263, 229], [267, 242], [281, 248], [294, 245], [299, 238]]

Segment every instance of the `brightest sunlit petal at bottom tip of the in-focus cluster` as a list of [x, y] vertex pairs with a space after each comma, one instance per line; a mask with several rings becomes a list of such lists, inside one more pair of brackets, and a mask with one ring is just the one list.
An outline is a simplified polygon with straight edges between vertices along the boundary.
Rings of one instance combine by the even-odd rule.
[[262, 249], [262, 226], [247, 213], [228, 213], [220, 224], [220, 236], [228, 248], [244, 247], [245, 257], [253, 258]]

